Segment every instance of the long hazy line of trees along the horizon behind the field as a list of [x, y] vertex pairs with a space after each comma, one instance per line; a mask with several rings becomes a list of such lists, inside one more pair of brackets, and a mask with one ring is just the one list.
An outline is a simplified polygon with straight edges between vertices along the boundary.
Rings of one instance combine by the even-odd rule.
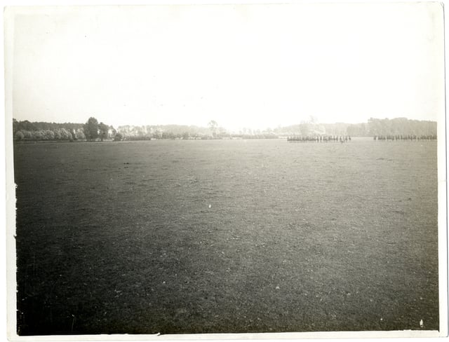
[[298, 125], [289, 125], [266, 130], [243, 128], [238, 133], [229, 133], [216, 121], [208, 127], [195, 125], [123, 125], [114, 129], [112, 125], [98, 123], [94, 117], [81, 123], [42, 123], [16, 121], [13, 119], [15, 140], [148, 140], [148, 139], [269, 139], [279, 136], [344, 136], [374, 137], [388, 135], [435, 135], [435, 121], [417, 121], [408, 118], [370, 118], [368, 123], [318, 123], [310, 118]]

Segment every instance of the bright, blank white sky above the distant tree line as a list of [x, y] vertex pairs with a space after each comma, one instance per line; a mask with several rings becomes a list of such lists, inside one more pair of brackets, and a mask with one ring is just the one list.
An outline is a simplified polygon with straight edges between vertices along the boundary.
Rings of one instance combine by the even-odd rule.
[[13, 117], [229, 129], [436, 120], [436, 3], [13, 8]]

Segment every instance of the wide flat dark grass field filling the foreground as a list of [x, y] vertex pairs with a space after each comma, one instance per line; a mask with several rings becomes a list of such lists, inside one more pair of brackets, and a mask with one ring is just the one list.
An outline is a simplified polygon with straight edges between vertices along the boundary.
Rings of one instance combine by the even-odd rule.
[[438, 329], [436, 142], [14, 153], [19, 334]]

